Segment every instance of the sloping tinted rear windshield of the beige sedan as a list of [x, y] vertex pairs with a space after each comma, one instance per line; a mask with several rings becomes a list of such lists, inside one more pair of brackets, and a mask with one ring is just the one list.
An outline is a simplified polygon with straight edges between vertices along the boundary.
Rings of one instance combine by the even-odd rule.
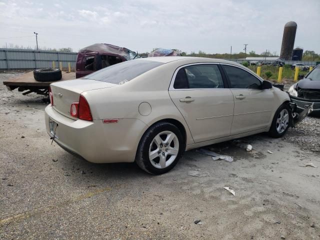
[[85, 79], [92, 79], [97, 81], [104, 81], [114, 84], [123, 84], [142, 73], [151, 70], [162, 62], [147, 61], [147, 60], [129, 60], [118, 64], [107, 66], [101, 70], [95, 71], [86, 75]]

